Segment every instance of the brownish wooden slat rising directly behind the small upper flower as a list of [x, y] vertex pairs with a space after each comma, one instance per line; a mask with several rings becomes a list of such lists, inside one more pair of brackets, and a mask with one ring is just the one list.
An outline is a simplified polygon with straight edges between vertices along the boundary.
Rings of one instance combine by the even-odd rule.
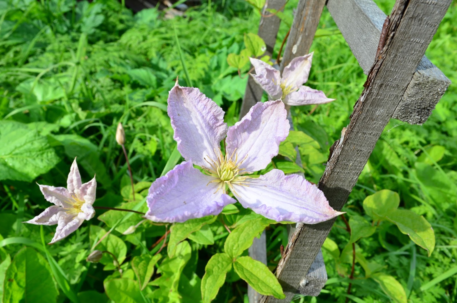
[[300, 0], [281, 61], [281, 71], [293, 58], [309, 53], [325, 0]]

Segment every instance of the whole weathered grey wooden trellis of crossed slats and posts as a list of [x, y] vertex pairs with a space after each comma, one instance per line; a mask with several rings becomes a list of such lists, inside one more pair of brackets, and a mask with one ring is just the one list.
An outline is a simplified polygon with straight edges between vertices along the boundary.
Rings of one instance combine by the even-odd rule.
[[[325, 2], [299, 1], [281, 70], [294, 57], [308, 53]], [[424, 53], [450, 4], [451, 0], [397, 0], [390, 23], [385, 24], [384, 38], [380, 39], [386, 16], [372, 0], [327, 1], [330, 14], [368, 74], [351, 122], [332, 146], [318, 184], [336, 210], [344, 206], [389, 119], [424, 123], [449, 86], [449, 79]], [[261, 92], [255, 96], [246, 94], [242, 109], [260, 100], [260, 96]], [[315, 225], [297, 224], [296, 229], [291, 229], [289, 244], [276, 270], [286, 299], [264, 296], [260, 302], [290, 302], [296, 293], [319, 294], [327, 279], [320, 247], [334, 222], [335, 219]], [[262, 249], [264, 235], [253, 243], [250, 255], [265, 258]], [[249, 297], [251, 303], [258, 302], [252, 290]]]

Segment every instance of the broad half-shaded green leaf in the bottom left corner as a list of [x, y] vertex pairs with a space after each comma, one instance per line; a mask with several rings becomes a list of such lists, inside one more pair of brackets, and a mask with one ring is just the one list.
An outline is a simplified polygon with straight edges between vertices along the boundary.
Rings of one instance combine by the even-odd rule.
[[3, 302], [56, 302], [55, 287], [48, 262], [35, 249], [19, 250], [6, 270]]

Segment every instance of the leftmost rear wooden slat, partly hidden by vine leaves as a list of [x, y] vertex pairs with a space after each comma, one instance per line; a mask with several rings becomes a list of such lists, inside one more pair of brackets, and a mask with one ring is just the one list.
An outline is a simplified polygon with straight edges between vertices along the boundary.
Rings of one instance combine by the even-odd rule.
[[[273, 53], [273, 48], [276, 43], [276, 36], [278, 34], [279, 23], [281, 19], [277, 16], [269, 16], [270, 12], [266, 11], [267, 8], [279, 10], [286, 3], [286, 0], [267, 0], [266, 5], [264, 6], [262, 13], [266, 15], [260, 18], [259, 31], [257, 34], [260, 38], [265, 41], [266, 44], [266, 55], [271, 56]], [[251, 66], [252, 68], [252, 66]], [[239, 112], [239, 119], [243, 118], [250, 108], [254, 106], [255, 103], [259, 102], [263, 94], [263, 89], [255, 83], [252, 77], [249, 77], [248, 84], [246, 85], [246, 90], [244, 91], [243, 103], [241, 103], [241, 109]]]

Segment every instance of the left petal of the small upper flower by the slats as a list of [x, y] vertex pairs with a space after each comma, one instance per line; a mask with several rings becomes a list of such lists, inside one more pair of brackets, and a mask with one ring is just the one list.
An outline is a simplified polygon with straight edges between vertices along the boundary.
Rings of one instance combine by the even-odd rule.
[[279, 99], [282, 95], [282, 89], [279, 86], [281, 84], [281, 75], [279, 70], [273, 68], [262, 60], [249, 58], [252, 66], [255, 68], [255, 75], [250, 74], [254, 81], [266, 91], [271, 98]]

